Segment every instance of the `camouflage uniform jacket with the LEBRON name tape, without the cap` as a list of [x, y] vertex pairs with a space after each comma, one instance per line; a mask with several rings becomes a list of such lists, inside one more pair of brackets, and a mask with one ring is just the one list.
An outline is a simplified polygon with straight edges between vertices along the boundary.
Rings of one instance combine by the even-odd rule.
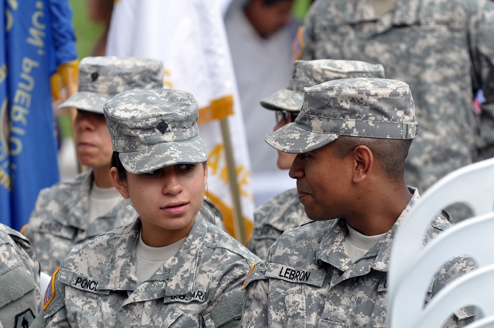
[[[419, 198], [412, 199], [386, 237], [355, 261], [345, 253], [346, 220], [313, 221], [286, 231], [270, 249], [267, 269], [247, 280], [242, 327], [387, 327], [386, 277], [393, 236]], [[424, 245], [451, 226], [436, 217]], [[434, 278], [427, 301], [438, 290], [473, 268], [470, 258], [457, 257]], [[459, 310], [445, 327], [463, 327], [471, 310]]]

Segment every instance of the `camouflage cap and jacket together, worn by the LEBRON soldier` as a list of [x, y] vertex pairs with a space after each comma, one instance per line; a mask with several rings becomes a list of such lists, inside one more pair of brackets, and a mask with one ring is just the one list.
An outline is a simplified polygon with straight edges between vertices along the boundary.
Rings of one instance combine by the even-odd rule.
[[[307, 88], [295, 123], [264, 139], [280, 151], [303, 154], [340, 135], [399, 140], [413, 139], [416, 134], [407, 83], [358, 78]], [[415, 188], [409, 187], [409, 191], [410, 201], [385, 238], [355, 262], [345, 252], [347, 226], [343, 218], [329, 217], [286, 231], [270, 248], [266, 267], [255, 266], [247, 277], [243, 327], [386, 327], [386, 272], [393, 237], [419, 198]], [[438, 216], [431, 221], [424, 243], [450, 226]], [[465, 257], [443, 266], [427, 301], [473, 268], [474, 262]], [[459, 310], [446, 327], [462, 327], [472, 316], [471, 311]]]

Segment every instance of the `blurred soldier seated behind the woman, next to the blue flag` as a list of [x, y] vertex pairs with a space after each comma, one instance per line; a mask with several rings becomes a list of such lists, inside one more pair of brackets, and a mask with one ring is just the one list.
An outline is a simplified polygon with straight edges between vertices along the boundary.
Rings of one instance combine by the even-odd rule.
[[[81, 60], [79, 92], [59, 108], [78, 109], [74, 123], [77, 157], [89, 169], [38, 196], [23, 234], [33, 243], [41, 271], [51, 275], [72, 247], [137, 217], [110, 179], [113, 149], [103, 106], [125, 90], [161, 88], [163, 72], [163, 64], [154, 59], [111, 56]], [[222, 227], [210, 204], [205, 202], [202, 209], [208, 221]]]

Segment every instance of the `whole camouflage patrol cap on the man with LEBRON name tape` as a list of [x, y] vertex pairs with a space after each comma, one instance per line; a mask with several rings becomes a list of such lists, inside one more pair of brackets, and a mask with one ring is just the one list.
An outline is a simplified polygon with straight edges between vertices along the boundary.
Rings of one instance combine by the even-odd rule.
[[342, 79], [305, 89], [300, 114], [264, 140], [291, 154], [306, 153], [340, 135], [412, 139], [415, 106], [407, 83], [377, 78]]

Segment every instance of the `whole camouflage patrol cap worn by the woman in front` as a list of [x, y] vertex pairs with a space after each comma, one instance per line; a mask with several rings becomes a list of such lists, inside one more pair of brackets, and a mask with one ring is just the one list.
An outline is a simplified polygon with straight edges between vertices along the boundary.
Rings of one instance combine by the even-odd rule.
[[188, 92], [127, 90], [105, 104], [104, 114], [113, 150], [130, 173], [207, 160], [197, 101]]

